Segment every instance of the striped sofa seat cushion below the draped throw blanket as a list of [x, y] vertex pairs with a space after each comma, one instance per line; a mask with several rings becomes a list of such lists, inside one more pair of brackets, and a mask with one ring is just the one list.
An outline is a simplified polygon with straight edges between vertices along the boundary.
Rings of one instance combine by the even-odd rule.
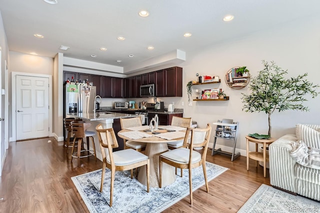
[[300, 164], [294, 166], [295, 178], [320, 185], [320, 170], [304, 167]]

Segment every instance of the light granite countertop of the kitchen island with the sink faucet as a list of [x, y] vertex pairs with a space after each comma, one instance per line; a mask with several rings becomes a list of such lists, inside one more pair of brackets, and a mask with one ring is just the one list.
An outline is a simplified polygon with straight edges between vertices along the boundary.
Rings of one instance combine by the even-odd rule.
[[77, 118], [81, 118], [83, 120], [88, 120], [88, 121], [99, 121], [99, 120], [107, 120], [107, 119], [136, 117], [136, 115], [117, 113], [117, 112], [95, 113], [95, 114], [94, 113], [71, 113], [68, 115], [74, 116]]

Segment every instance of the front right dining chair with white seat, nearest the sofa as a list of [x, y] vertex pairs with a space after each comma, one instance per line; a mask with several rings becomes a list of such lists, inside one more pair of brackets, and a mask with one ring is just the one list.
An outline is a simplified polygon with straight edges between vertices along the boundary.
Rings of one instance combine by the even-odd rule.
[[[183, 146], [174, 150], [169, 150], [160, 154], [159, 157], [159, 188], [162, 182], [162, 163], [166, 163], [176, 168], [188, 169], [189, 171], [189, 188], [190, 188], [190, 204], [192, 205], [192, 168], [202, 165], [206, 192], [209, 192], [206, 170], [205, 156], [208, 148], [209, 138], [211, 134], [211, 126], [207, 124], [205, 129], [187, 128], [183, 140]], [[203, 147], [203, 152], [200, 154], [194, 151], [195, 147]]]

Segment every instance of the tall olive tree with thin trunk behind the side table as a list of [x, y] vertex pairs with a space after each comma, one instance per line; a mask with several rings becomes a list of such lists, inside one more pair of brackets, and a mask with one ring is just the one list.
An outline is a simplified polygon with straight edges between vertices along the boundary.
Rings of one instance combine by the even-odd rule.
[[307, 101], [306, 94], [315, 98], [319, 92], [316, 89], [318, 84], [305, 80], [307, 73], [297, 77], [285, 78], [287, 70], [278, 67], [273, 61], [262, 60], [263, 70], [251, 79], [249, 88], [250, 94], [243, 94], [241, 97], [245, 112], [265, 112], [268, 115], [268, 135], [271, 136], [271, 115], [277, 110], [308, 111], [308, 107], [302, 103]]

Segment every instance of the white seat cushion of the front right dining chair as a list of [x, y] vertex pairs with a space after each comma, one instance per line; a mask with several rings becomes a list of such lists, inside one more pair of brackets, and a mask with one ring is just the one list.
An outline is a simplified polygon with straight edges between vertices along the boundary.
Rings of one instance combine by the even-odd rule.
[[[171, 160], [179, 164], [187, 164], [189, 162], [190, 150], [186, 148], [178, 148], [160, 154], [161, 157]], [[201, 161], [201, 154], [192, 150], [192, 164]]]

